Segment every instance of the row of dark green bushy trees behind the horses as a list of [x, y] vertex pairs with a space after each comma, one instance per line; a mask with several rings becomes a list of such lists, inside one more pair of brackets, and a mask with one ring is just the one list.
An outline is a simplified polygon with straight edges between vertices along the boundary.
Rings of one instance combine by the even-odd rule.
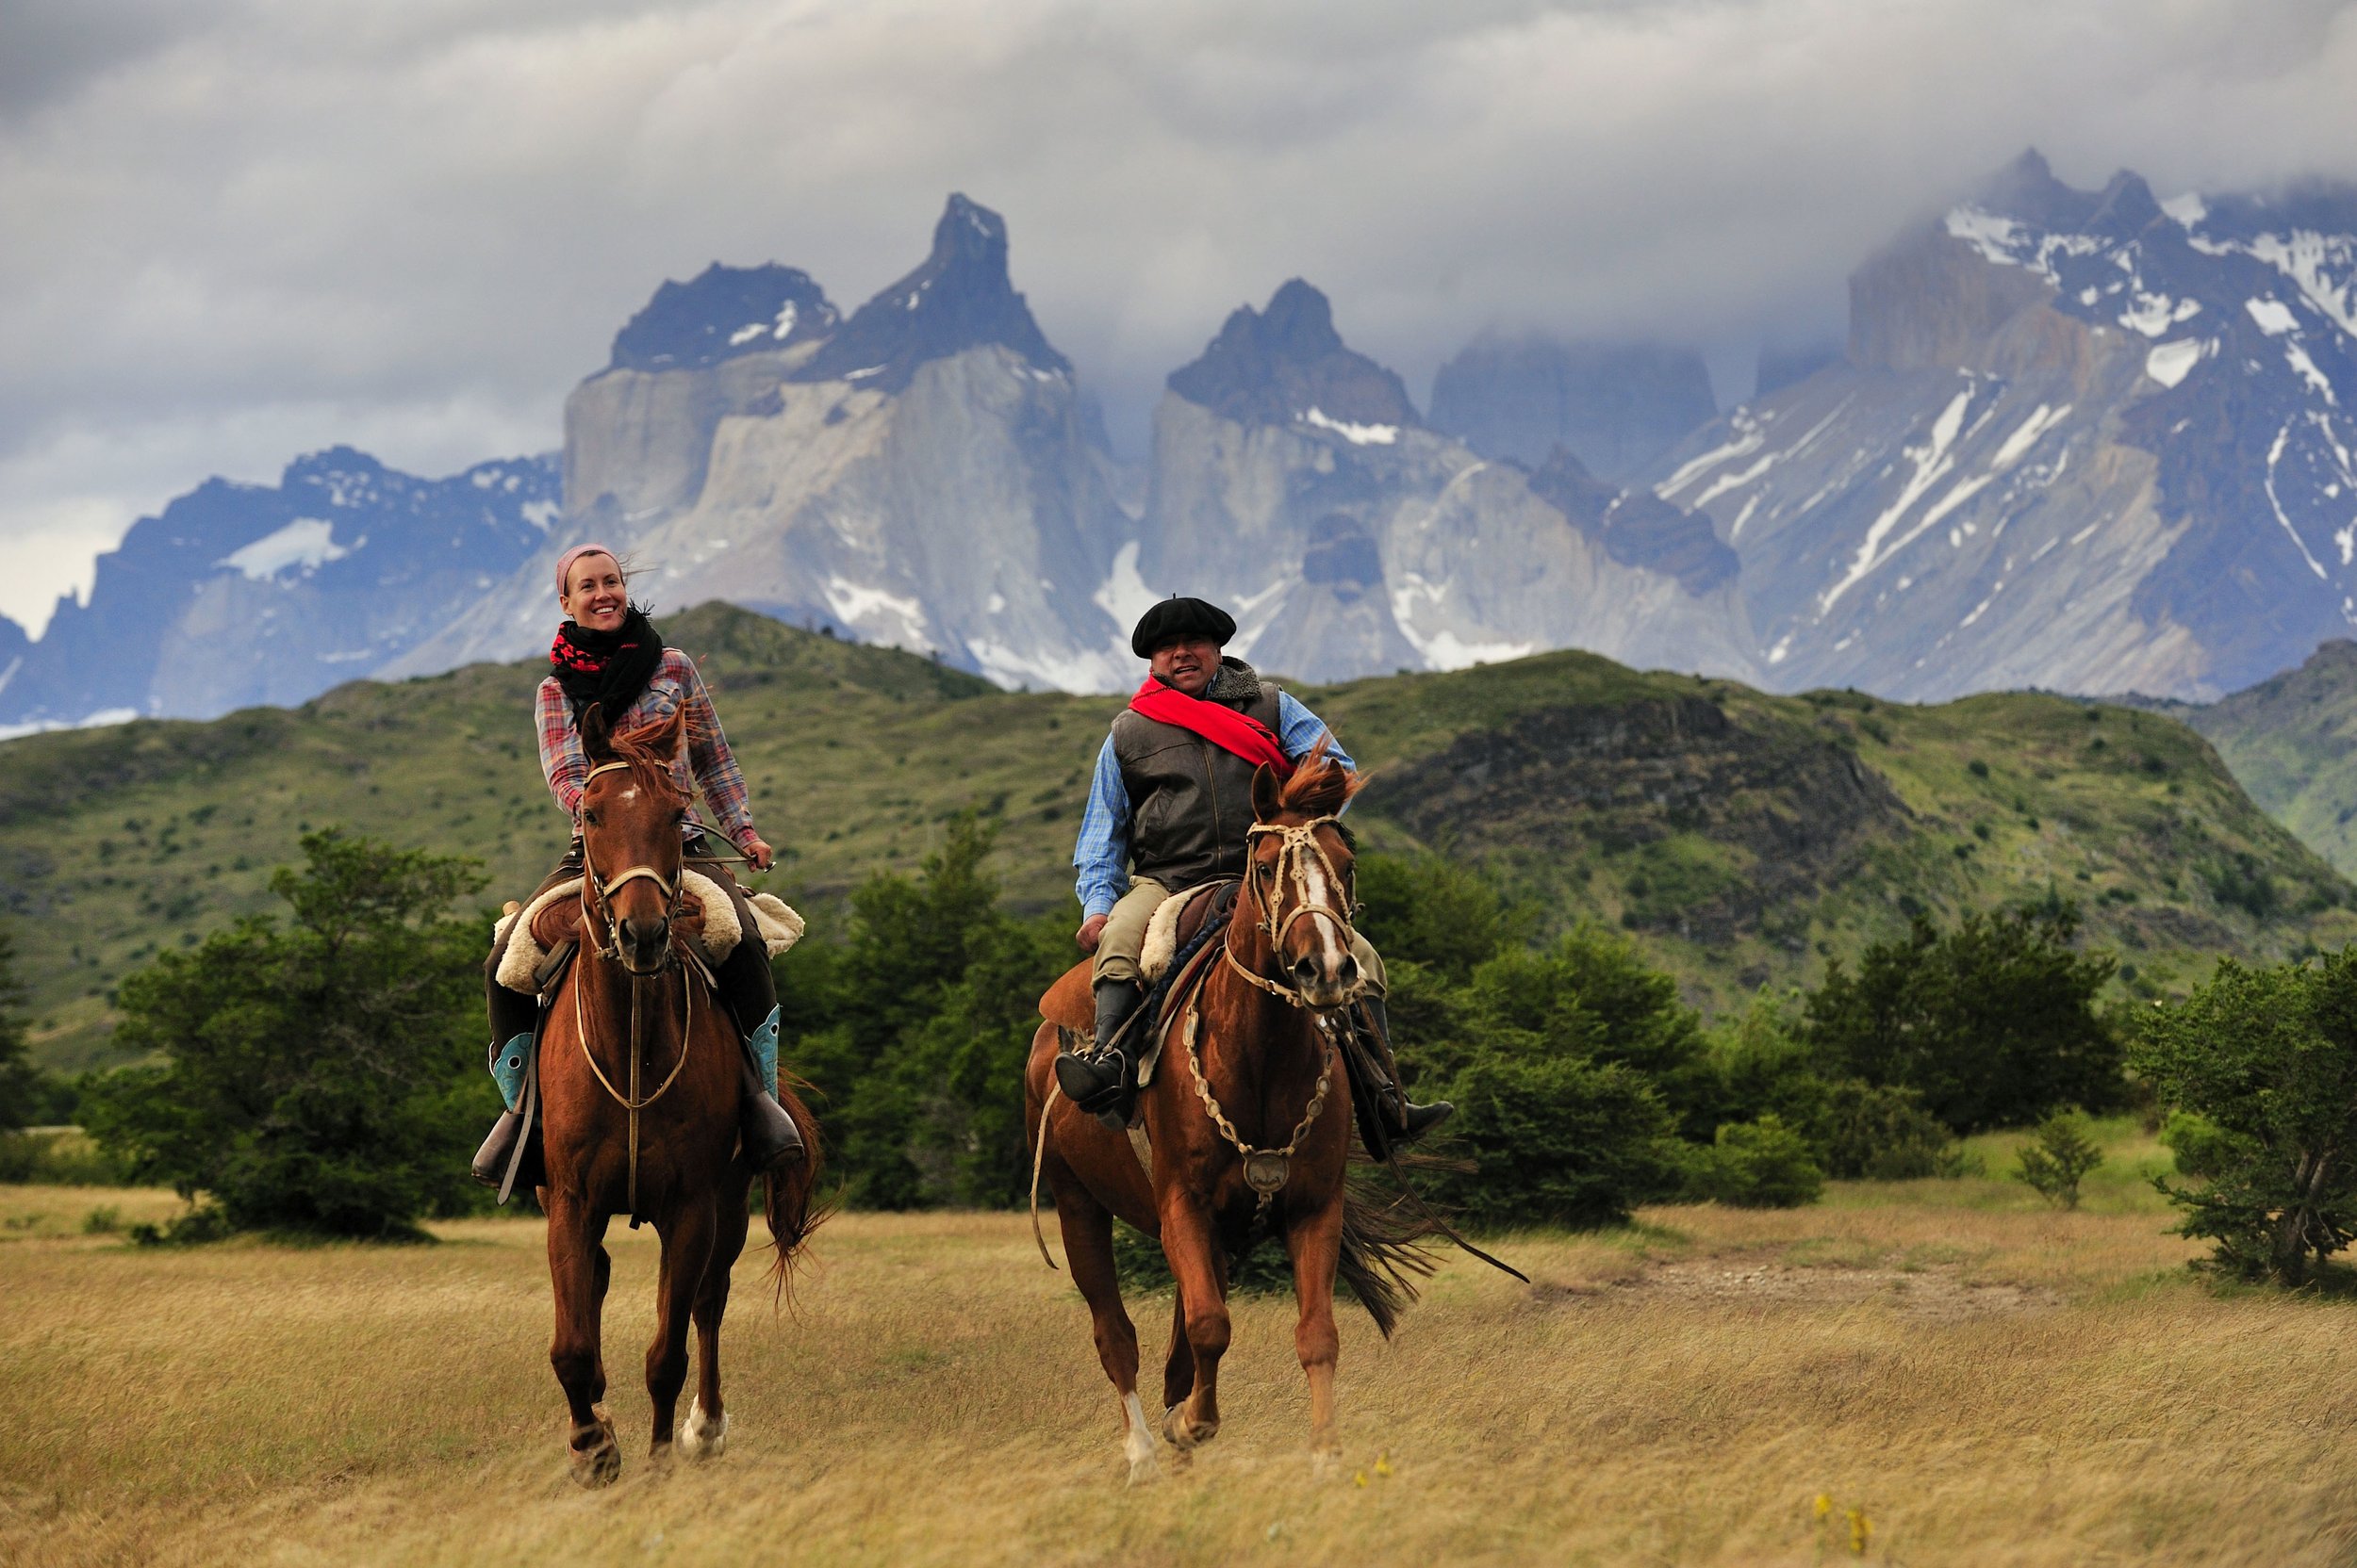
[[[342, 831], [302, 850], [278, 916], [123, 982], [139, 1067], [35, 1074], [0, 944], [0, 1180], [38, 1163], [7, 1130], [71, 1107], [123, 1177], [191, 1201], [177, 1238], [415, 1238], [483, 1208], [464, 1165], [497, 1111], [486, 918], [457, 913], [481, 871]], [[1037, 996], [1077, 958], [1077, 906], [1016, 913], [988, 862], [988, 824], [952, 819], [915, 876], [872, 876], [834, 939], [778, 961], [783, 1055], [849, 1205], [1023, 1201], [1023, 1059]], [[1541, 939], [1475, 869], [1365, 855], [1358, 888], [1402, 1074], [1459, 1104], [1419, 1184], [1471, 1227], [1805, 1203], [1829, 1177], [1956, 1175], [1959, 1137], [2039, 1123], [2074, 1196], [2079, 1135], [2053, 1118], [2143, 1095], [2213, 1267], [2300, 1283], [2357, 1234], [2357, 951], [2223, 961], [2187, 1001], [2131, 1012], [2105, 1005], [2114, 965], [2084, 951], [2077, 909], [2048, 899], [1916, 916], [1815, 989], [1706, 1022], [1624, 935]]]

